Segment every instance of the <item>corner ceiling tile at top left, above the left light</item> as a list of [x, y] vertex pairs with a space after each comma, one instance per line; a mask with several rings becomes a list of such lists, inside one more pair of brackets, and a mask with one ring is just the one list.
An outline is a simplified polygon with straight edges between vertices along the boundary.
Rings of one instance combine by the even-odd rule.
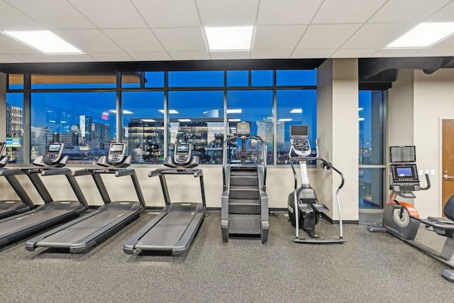
[[43, 30], [38, 22], [33, 21], [13, 6], [0, 1], [0, 31], [38, 31]]

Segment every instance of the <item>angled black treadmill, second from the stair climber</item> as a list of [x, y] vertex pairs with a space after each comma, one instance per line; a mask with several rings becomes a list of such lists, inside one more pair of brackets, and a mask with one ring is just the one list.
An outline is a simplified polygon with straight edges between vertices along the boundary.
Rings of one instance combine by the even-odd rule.
[[[131, 156], [126, 156], [126, 143], [111, 143], [109, 155], [101, 156], [98, 165], [103, 168], [77, 170], [72, 175], [92, 175], [104, 205], [96, 211], [28, 240], [27, 250], [48, 247], [67, 248], [71, 253], [84, 253], [126, 224], [138, 219], [140, 213], [145, 210], [145, 200], [135, 170], [126, 168], [131, 165]], [[101, 175], [105, 174], [115, 174], [116, 177], [131, 176], [138, 201], [111, 201], [101, 178]]]

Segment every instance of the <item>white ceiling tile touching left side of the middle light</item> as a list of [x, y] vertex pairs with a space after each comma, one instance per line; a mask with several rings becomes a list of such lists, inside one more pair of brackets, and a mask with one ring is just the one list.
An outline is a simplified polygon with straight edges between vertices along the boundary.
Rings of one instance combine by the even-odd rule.
[[201, 28], [155, 28], [153, 32], [168, 52], [207, 50]]

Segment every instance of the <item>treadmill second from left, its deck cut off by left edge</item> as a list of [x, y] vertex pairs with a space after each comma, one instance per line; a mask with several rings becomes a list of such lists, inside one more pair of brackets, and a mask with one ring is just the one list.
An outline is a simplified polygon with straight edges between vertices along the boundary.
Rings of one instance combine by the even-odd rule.
[[[64, 167], [69, 157], [62, 157], [63, 148], [64, 143], [50, 143], [46, 148], [45, 156], [38, 156], [33, 162], [33, 165], [37, 166], [36, 168], [21, 168], [21, 172], [17, 171], [17, 175], [25, 173], [28, 176], [44, 204], [22, 214], [1, 219], [0, 246], [72, 219], [88, 208], [87, 200], [85, 200], [79, 184], [72, 177], [72, 171]], [[54, 201], [40, 175], [65, 175], [77, 200]]]

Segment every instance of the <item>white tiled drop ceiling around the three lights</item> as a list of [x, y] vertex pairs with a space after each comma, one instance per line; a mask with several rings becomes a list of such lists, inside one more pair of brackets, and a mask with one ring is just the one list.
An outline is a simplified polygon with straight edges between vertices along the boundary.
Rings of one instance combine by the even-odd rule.
[[[454, 56], [384, 47], [450, 0], [0, 0], [0, 31], [50, 30], [83, 55], [44, 55], [0, 34], [1, 63]], [[204, 26], [255, 26], [250, 51], [209, 52]]]

